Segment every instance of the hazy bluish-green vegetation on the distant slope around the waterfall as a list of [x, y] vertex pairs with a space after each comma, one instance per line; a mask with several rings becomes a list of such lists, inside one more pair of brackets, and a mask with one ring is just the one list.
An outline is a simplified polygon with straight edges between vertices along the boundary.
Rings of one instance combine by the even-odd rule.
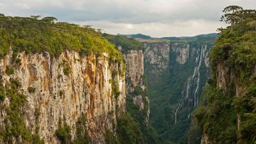
[[[170, 51], [168, 70], [162, 71], [160, 75], [154, 76], [152, 69], [154, 66], [145, 62], [145, 73], [147, 74], [149, 99], [150, 99], [150, 121], [159, 136], [159, 143], [187, 143], [186, 134], [189, 131], [191, 119], [189, 114], [193, 111], [193, 94], [196, 88], [196, 78], [191, 82], [191, 91], [186, 98], [186, 84], [188, 78], [192, 77], [195, 67], [198, 66], [196, 58], [198, 55], [191, 49], [200, 50], [207, 45], [206, 51], [213, 46], [215, 37], [210, 36], [209, 43], [202, 43], [201, 40], [194, 41], [175, 41], [170, 43], [170, 47], [186, 47], [190, 45], [189, 58], [184, 64], [179, 64], [176, 60], [180, 53]], [[209, 77], [210, 69], [205, 63], [199, 69], [200, 82], [198, 95], [202, 93], [202, 88]], [[175, 123], [175, 110], [182, 105], [177, 112]], [[183, 103], [183, 104], [182, 104]]]

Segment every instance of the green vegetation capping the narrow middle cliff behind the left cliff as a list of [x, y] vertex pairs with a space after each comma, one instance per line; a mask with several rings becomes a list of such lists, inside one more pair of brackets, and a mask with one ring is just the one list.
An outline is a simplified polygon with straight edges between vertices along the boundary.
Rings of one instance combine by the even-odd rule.
[[127, 53], [129, 50], [140, 50], [143, 49], [142, 43], [134, 40], [134, 38], [127, 38], [127, 36], [123, 35], [111, 35], [111, 34], [103, 34], [103, 37], [109, 40], [110, 43], [113, 43], [122, 47], [122, 53]]

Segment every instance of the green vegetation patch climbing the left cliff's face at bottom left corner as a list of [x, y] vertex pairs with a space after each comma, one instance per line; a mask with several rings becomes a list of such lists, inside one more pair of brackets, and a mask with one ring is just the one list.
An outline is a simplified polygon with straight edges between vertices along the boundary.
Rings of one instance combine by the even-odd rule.
[[19, 93], [21, 84], [17, 79], [10, 79], [6, 86], [0, 86], [0, 97], [10, 99], [10, 107], [5, 107], [6, 117], [4, 119], [3, 129], [0, 130], [0, 139], [7, 143], [12, 143], [13, 139], [19, 141], [20, 137], [23, 143], [43, 143], [39, 136], [32, 135], [25, 126], [22, 114], [26, 99], [25, 95]]

